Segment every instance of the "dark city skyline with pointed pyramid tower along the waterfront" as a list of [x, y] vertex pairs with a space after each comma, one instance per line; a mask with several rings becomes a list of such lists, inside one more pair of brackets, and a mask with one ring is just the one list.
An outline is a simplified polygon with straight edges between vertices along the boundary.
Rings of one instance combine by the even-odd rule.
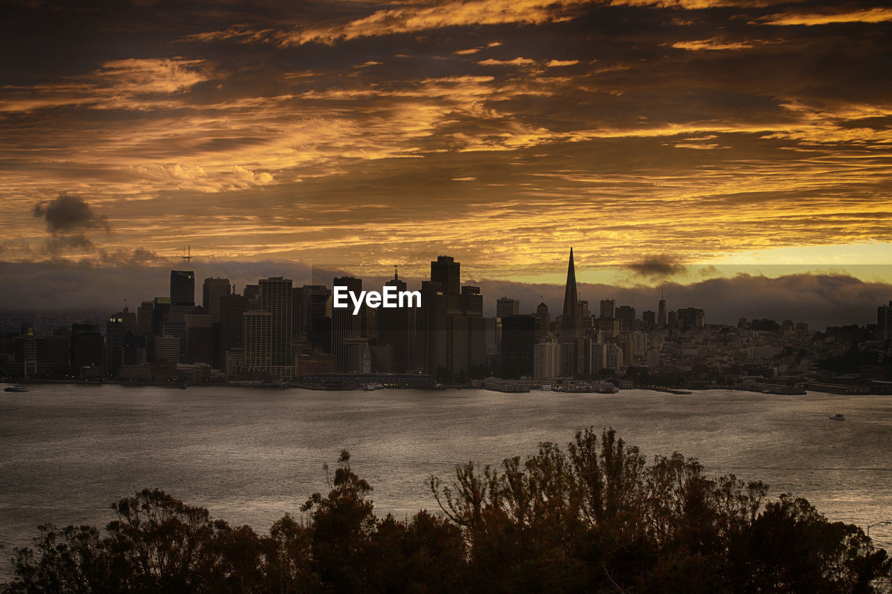
[[[742, 382], [749, 384], [743, 389], [775, 393], [805, 393], [803, 384], [838, 393], [888, 392], [884, 353], [892, 301], [877, 306], [876, 324], [828, 326], [825, 333], [801, 319], [743, 316], [735, 325], [707, 323], [704, 308], [669, 310], [664, 291], [657, 311], [614, 298], [596, 308], [580, 298], [571, 248], [559, 315], [552, 317], [545, 302], [525, 313], [519, 300], [503, 295], [495, 300], [496, 316], [488, 318], [480, 287], [462, 285], [461, 263], [448, 255], [430, 261], [431, 280], [421, 283], [416, 303], [390, 309], [379, 310], [380, 294], [365, 302], [356, 297], [367, 294], [361, 277], [335, 276], [329, 289], [321, 276], [330, 271], [313, 272], [313, 285], [270, 276], [244, 285], [242, 293], [228, 278], [208, 277], [199, 303], [194, 270], [173, 269], [169, 296], [143, 299], [136, 311], [125, 306], [100, 324], [69, 320], [52, 332], [31, 324], [4, 332], [0, 372], [183, 385], [300, 379], [313, 389], [341, 389], [351, 381], [347, 376], [372, 374], [403, 387], [487, 376], [541, 382], [619, 374], [619, 387]], [[374, 285], [365, 288], [371, 292]], [[408, 288], [396, 268], [384, 286]], [[344, 291], [353, 295], [352, 312], [339, 307], [337, 295]], [[765, 387], [765, 377], [797, 385]], [[863, 385], [853, 388], [853, 378]], [[616, 385], [599, 389], [615, 392]]]

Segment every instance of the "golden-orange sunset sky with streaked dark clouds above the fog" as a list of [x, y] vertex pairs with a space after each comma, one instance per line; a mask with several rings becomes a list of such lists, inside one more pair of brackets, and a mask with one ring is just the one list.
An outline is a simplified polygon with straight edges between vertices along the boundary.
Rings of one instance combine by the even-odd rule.
[[888, 265], [884, 4], [7, 2], [4, 280]]

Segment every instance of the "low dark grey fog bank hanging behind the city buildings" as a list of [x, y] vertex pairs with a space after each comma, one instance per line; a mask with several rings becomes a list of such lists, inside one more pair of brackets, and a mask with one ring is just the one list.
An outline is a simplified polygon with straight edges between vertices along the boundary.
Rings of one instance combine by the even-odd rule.
[[[577, 251], [578, 252], [578, 251]], [[434, 256], [431, 256], [433, 258]], [[442, 258], [443, 256], [438, 256]], [[171, 263], [169, 267], [145, 267], [138, 277], [122, 276], [119, 268], [81, 267], [78, 276], [66, 274], [62, 279], [48, 280], [45, 266], [52, 264], [13, 264], [18, 270], [13, 273], [20, 278], [33, 279], [35, 283], [46, 282], [55, 292], [36, 291], [25, 285], [8, 285], [0, 298], [0, 314], [24, 316], [33, 314], [59, 313], [76, 315], [94, 313], [105, 315], [129, 303], [135, 305], [141, 299], [158, 295], [159, 278], [174, 277], [176, 268], [191, 268], [195, 278], [215, 279], [225, 276], [230, 285], [243, 287], [256, 285], [259, 278], [286, 276], [293, 278], [295, 286], [331, 285], [332, 276], [356, 276], [364, 278], [373, 287], [381, 288], [392, 276], [363, 276], [349, 269], [293, 266], [283, 262], [263, 263], [262, 266], [241, 263], [237, 267], [232, 262]], [[473, 268], [473, 262], [471, 262]], [[773, 267], [783, 270], [784, 267]], [[892, 267], [886, 267], [892, 268]], [[195, 272], [197, 270], [197, 272]], [[578, 268], [574, 271], [578, 275]], [[232, 274], [235, 272], [235, 274]], [[566, 273], [565, 273], [566, 274]], [[4, 275], [0, 266], [0, 279], [13, 276]], [[697, 278], [696, 270], [691, 276]], [[85, 278], [87, 279], [85, 281]], [[408, 283], [410, 290], [418, 290], [428, 276], [412, 277], [401, 275], [401, 281]], [[657, 276], [657, 279], [659, 276]], [[327, 279], [327, 280], [326, 280]], [[484, 315], [497, 314], [497, 301], [508, 297], [520, 301], [519, 308], [526, 313], [545, 301], [549, 310], [560, 312], [566, 300], [565, 284], [528, 284], [492, 279], [476, 280], [462, 273], [461, 285], [476, 285], [487, 298], [483, 302]], [[888, 301], [892, 295], [892, 285], [883, 282], [865, 282], [855, 276], [840, 274], [833, 270], [822, 275], [780, 274], [738, 274], [728, 277], [701, 278], [688, 285], [665, 280], [656, 286], [650, 285], [605, 285], [578, 283], [580, 301], [590, 301], [593, 311], [598, 313], [598, 301], [613, 299], [617, 305], [627, 304], [639, 311], [658, 309], [661, 294], [668, 293], [669, 301], [675, 304], [705, 307], [711, 312], [711, 319], [718, 324], [736, 324], [740, 317], [753, 319], [796, 319], [813, 327], [847, 326], [871, 324], [875, 320], [878, 303]], [[201, 290], [195, 288], [200, 298]], [[111, 294], [110, 294], [111, 293]], [[165, 293], [165, 291], [161, 291]], [[166, 293], [165, 293], [166, 294]], [[196, 302], [200, 302], [201, 300]]]

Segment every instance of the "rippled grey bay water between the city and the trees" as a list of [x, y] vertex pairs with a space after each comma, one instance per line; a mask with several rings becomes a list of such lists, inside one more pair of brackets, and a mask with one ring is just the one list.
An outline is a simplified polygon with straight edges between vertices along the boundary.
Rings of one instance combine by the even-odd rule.
[[[847, 420], [828, 418], [838, 412]], [[888, 396], [36, 385], [0, 392], [0, 544], [29, 544], [47, 522], [102, 526], [112, 501], [144, 487], [265, 532], [326, 491], [322, 464], [342, 449], [376, 512], [407, 516], [436, 507], [430, 474], [564, 446], [590, 425], [648, 458], [678, 450], [710, 474], [763, 480], [772, 497], [804, 496], [832, 520], [892, 519]], [[890, 528], [871, 529], [887, 549]]]

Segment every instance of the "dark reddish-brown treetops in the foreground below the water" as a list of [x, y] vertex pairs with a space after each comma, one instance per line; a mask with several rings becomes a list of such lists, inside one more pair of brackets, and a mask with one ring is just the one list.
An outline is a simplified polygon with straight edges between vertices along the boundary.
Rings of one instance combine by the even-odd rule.
[[[890, 561], [854, 525], [762, 483], [648, 464], [613, 430], [542, 443], [429, 486], [442, 516], [374, 514], [341, 453], [327, 495], [258, 535], [163, 491], [112, 505], [104, 532], [41, 526], [4, 590], [37, 592], [876, 592]], [[883, 577], [886, 576], [886, 577]], [[885, 581], [884, 581], [885, 580]]]

